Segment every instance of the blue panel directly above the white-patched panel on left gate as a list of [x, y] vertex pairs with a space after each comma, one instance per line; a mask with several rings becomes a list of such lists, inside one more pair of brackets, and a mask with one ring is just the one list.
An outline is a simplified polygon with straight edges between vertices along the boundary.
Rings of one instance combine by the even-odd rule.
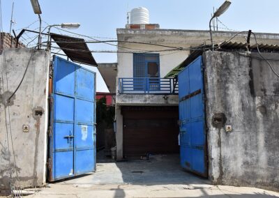
[[76, 100], [77, 123], [94, 123], [94, 103], [86, 100]]

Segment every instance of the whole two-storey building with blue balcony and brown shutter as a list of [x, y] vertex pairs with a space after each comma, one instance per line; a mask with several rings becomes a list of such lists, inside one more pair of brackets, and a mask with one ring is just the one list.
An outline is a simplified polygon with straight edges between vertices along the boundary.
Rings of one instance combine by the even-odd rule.
[[[153, 29], [144, 29], [130, 25], [116, 30], [119, 40], [115, 82], [118, 160], [133, 155], [178, 151], [174, 147], [178, 148], [179, 130], [175, 123], [179, 120], [179, 83], [175, 78], [164, 77], [195, 50], [193, 46], [210, 44], [210, 37], [209, 31], [158, 27], [153, 25]], [[223, 43], [235, 34], [232, 31], [213, 32], [213, 42]], [[247, 33], [239, 33], [234, 41], [246, 43], [246, 37]], [[278, 34], [257, 33], [258, 43], [278, 45], [278, 38]], [[255, 44], [253, 40], [251, 43]], [[177, 116], [169, 120], [169, 114]], [[165, 136], [161, 137], [160, 131], [166, 131]], [[172, 141], [166, 143], [165, 139]]]

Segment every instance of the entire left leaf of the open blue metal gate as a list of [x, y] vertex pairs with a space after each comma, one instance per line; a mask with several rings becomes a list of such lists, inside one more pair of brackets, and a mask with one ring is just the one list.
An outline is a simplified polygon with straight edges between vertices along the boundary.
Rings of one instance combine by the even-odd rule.
[[96, 170], [96, 73], [54, 56], [49, 181]]

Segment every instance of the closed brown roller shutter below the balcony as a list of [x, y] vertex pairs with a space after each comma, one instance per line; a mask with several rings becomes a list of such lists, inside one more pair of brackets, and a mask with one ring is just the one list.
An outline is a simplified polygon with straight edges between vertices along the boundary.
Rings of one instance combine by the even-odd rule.
[[179, 152], [178, 107], [122, 107], [123, 155]]

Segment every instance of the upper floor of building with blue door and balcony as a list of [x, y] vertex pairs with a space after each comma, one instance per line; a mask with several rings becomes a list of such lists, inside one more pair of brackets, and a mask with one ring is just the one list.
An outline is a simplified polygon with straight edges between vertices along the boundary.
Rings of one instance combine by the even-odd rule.
[[[114, 68], [116, 105], [177, 105], [179, 82], [165, 78], [197, 46], [209, 45], [209, 31], [176, 29], [117, 29]], [[213, 31], [213, 43], [246, 43], [248, 32]], [[256, 33], [258, 43], [279, 45], [279, 34]], [[255, 40], [251, 38], [251, 45]], [[199, 50], [203, 50], [202, 47]], [[112, 78], [110, 77], [110, 81]]]

